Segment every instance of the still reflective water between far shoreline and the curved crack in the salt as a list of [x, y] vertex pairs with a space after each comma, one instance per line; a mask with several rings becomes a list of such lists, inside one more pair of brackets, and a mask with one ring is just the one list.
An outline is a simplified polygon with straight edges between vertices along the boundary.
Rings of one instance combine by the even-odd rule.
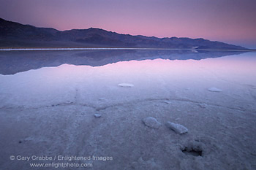
[[[247, 107], [244, 103], [252, 101], [255, 95], [256, 55], [230, 53], [170, 53], [170, 50], [4, 53], [1, 54], [1, 74], [4, 74], [0, 77], [1, 107], [69, 102], [95, 105], [99, 98], [115, 103], [180, 97], [244, 108]], [[121, 88], [120, 83], [134, 87]], [[223, 92], [212, 94], [208, 88]], [[78, 94], [79, 97], [75, 96]], [[216, 95], [222, 97], [215, 100]]]

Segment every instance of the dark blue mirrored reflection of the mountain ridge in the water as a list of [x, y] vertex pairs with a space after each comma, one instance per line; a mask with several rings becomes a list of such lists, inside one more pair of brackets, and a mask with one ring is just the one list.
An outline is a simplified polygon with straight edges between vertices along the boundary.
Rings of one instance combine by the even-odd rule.
[[0, 53], [0, 74], [15, 74], [61, 64], [104, 66], [119, 61], [201, 60], [244, 52], [192, 50], [73, 50], [73, 51], [7, 51]]

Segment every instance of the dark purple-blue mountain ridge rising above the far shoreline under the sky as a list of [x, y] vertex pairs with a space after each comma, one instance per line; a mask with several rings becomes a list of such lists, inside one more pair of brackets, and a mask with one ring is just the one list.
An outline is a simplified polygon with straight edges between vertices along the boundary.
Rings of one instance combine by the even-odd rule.
[[207, 39], [132, 36], [100, 28], [58, 31], [0, 18], [0, 47], [154, 47], [178, 49], [246, 50], [245, 47]]

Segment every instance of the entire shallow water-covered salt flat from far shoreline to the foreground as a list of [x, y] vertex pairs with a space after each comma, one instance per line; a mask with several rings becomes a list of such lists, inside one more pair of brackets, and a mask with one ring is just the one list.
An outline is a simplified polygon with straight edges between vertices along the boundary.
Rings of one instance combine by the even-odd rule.
[[[256, 53], [1, 52], [0, 60], [1, 168], [256, 168]], [[167, 121], [188, 132], [176, 134]]]

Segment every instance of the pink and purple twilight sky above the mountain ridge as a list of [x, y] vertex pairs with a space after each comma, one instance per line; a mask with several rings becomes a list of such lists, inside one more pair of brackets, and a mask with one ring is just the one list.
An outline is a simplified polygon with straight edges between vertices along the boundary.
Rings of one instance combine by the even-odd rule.
[[256, 0], [0, 0], [0, 18], [60, 31], [93, 27], [256, 49]]

